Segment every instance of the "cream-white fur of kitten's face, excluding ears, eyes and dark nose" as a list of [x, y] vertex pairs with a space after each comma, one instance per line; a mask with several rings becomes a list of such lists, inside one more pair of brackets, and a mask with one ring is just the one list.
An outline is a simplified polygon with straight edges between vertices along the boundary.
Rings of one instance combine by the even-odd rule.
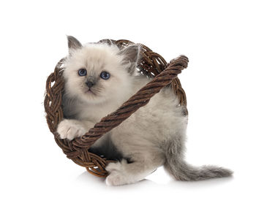
[[[71, 57], [65, 64], [64, 78], [67, 80], [66, 90], [70, 96], [79, 96], [83, 102], [91, 104], [105, 104], [112, 96], [115, 103], [127, 96], [132, 85], [125, 67], [121, 66], [123, 57], [118, 55], [118, 47], [105, 44], [86, 44], [78, 50], [73, 50]], [[93, 89], [97, 96], [84, 93], [86, 87], [83, 77], [78, 76], [78, 69], [86, 68], [88, 74], [99, 76], [100, 72], [110, 72], [109, 80], [99, 80], [99, 88]], [[113, 85], [115, 84], [115, 85]], [[104, 91], [101, 91], [104, 86]], [[110, 97], [111, 96], [111, 97]], [[96, 98], [97, 97], [97, 98]], [[87, 116], [86, 116], [87, 117]]]

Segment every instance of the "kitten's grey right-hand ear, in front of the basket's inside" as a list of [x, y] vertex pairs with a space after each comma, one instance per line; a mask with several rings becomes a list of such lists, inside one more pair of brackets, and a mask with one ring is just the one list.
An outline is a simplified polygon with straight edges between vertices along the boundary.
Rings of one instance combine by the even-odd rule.
[[140, 59], [140, 45], [129, 45], [120, 50], [119, 55], [123, 55], [123, 64], [127, 65], [129, 74], [134, 74], [138, 61]]

